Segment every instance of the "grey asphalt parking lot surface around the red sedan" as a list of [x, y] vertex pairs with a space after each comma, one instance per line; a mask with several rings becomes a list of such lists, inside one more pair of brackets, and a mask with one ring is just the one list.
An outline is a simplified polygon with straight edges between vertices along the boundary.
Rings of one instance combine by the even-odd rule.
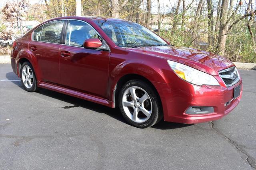
[[239, 71], [242, 100], [223, 119], [140, 129], [118, 109], [26, 92], [1, 64], [0, 169], [254, 169], [256, 71]]

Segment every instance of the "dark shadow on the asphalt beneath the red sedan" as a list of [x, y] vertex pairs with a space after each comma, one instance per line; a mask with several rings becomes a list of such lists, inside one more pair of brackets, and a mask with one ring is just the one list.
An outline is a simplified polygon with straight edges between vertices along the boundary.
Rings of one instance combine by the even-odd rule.
[[[15, 73], [10, 72], [10, 73], [6, 73], [6, 78], [8, 80], [20, 80], [20, 78], [17, 77], [17, 75], [15, 75]], [[14, 83], [15, 85], [17, 85], [18, 87], [20, 87], [21, 89], [25, 90], [21, 84], [20, 81], [11, 81], [12, 83]], [[29, 92], [28, 92], [29, 93]], [[58, 99], [61, 101], [64, 101], [66, 103], [70, 103], [70, 105], [68, 106], [63, 106], [62, 108], [64, 109], [69, 109], [72, 107], [83, 107], [85, 109], [90, 109], [92, 111], [95, 111], [97, 113], [104, 113], [118, 121], [121, 121], [123, 123], [126, 123], [126, 121], [124, 120], [124, 118], [122, 117], [120, 111], [118, 108], [110, 108], [110, 107], [106, 107], [97, 103], [93, 103], [90, 101], [86, 101], [83, 99], [79, 99], [76, 97], [72, 97], [69, 95], [65, 95], [62, 93], [58, 93], [56, 91], [51, 91], [48, 89], [42, 89], [40, 88], [36, 93], [40, 93], [42, 95], [46, 95], [48, 97], [52, 97], [54, 99]], [[156, 128], [156, 129], [174, 129], [174, 128], [182, 128], [182, 127], [188, 127], [191, 125], [188, 124], [181, 124], [181, 123], [171, 123], [171, 122], [164, 122], [163, 120], [160, 121], [158, 124], [152, 126], [152, 128]]]

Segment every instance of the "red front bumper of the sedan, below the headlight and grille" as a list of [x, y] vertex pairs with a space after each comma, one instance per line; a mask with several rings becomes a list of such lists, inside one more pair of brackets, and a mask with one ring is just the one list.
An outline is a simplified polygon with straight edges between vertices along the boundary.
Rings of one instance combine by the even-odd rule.
[[[216, 76], [220, 80], [220, 77]], [[231, 87], [224, 84], [220, 86], [192, 85], [178, 78], [171, 84], [152, 82], [162, 101], [164, 121], [176, 123], [202, 123], [220, 119], [230, 113], [240, 102], [242, 97], [242, 79]], [[233, 98], [234, 88], [238, 85], [240, 96]], [[225, 103], [228, 103], [226, 105]], [[186, 114], [191, 107], [213, 107], [214, 112], [208, 114]]]

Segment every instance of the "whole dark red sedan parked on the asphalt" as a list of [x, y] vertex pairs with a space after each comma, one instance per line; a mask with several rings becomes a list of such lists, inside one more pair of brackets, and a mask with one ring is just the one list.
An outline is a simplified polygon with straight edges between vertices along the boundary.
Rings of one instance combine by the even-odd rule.
[[26, 91], [38, 87], [108, 107], [150, 127], [214, 121], [234, 109], [242, 79], [218, 55], [170, 45], [140, 24], [96, 17], [43, 22], [14, 42], [12, 69]]

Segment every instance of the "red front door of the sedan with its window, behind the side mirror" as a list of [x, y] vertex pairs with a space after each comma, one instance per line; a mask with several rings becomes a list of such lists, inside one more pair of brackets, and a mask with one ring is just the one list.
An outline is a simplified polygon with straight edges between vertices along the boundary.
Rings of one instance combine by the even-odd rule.
[[[86, 49], [84, 40], [100, 38], [99, 49]], [[62, 85], [97, 95], [107, 96], [109, 47], [86, 22], [69, 20], [60, 47], [60, 77]]]

